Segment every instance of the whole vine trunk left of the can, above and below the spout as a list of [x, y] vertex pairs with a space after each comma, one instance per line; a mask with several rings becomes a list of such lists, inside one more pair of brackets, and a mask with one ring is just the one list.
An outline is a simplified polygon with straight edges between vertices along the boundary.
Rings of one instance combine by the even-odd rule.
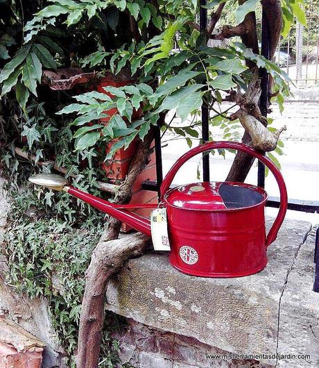
[[[153, 129], [139, 144], [135, 157], [130, 164], [126, 181], [120, 185], [117, 192], [117, 203], [128, 203], [130, 201], [132, 187], [137, 175], [148, 163], [148, 154], [152, 142]], [[103, 233], [100, 242], [93, 251], [87, 269], [78, 333], [78, 368], [98, 367], [104, 321], [105, 287], [108, 279], [121, 268], [123, 262], [132, 256], [140, 255], [148, 246], [149, 238], [140, 233], [116, 240], [120, 228], [121, 221], [111, 218], [109, 227]]]

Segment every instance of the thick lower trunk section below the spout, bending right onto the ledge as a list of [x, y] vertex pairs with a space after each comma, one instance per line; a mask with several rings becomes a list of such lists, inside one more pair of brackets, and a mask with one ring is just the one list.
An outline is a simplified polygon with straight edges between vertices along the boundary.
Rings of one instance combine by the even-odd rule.
[[77, 367], [96, 368], [104, 322], [104, 299], [107, 281], [129, 258], [140, 256], [150, 244], [141, 233], [121, 239], [98, 242], [87, 269], [87, 281], [80, 316]]

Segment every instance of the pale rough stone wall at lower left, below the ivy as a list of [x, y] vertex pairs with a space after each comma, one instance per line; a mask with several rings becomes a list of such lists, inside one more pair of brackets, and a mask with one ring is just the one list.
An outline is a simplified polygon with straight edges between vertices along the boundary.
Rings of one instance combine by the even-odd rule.
[[[0, 178], [0, 244], [3, 244], [6, 219], [10, 210], [2, 186], [3, 179]], [[47, 302], [44, 299], [31, 301], [26, 296], [15, 293], [4, 281], [6, 271], [6, 260], [0, 256], [0, 314], [19, 323], [46, 344], [42, 367], [66, 367], [61, 358], [63, 351], [58, 344], [58, 337], [51, 326]]]

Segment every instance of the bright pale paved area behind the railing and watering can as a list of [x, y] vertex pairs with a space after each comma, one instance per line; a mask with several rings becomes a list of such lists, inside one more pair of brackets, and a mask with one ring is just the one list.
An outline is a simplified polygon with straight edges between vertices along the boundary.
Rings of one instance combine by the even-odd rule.
[[[288, 196], [293, 199], [311, 199], [319, 201], [319, 101], [313, 102], [286, 102], [282, 115], [277, 106], [273, 106], [273, 113], [270, 115], [275, 120], [274, 127], [286, 125], [287, 131], [282, 133], [284, 142], [284, 155], [279, 157], [282, 164], [282, 174], [284, 175], [288, 188]], [[174, 122], [178, 126], [178, 122]], [[212, 128], [214, 140], [221, 140], [223, 135], [218, 128]], [[169, 133], [164, 135], [163, 140], [171, 140], [176, 135]], [[171, 165], [189, 150], [184, 139], [171, 140], [166, 142], [163, 148], [163, 168], [164, 174]], [[198, 141], [193, 140], [193, 145]], [[231, 153], [227, 153], [224, 160], [221, 156], [210, 156], [211, 177], [215, 180], [225, 180], [232, 158]], [[200, 157], [193, 158], [188, 165], [184, 165], [175, 178], [175, 183], [187, 183], [198, 181], [197, 169], [200, 165]], [[257, 168], [252, 168], [247, 182], [256, 184]], [[266, 190], [270, 196], [278, 196], [279, 191], [275, 179], [269, 175], [266, 178]], [[269, 208], [270, 215], [275, 214], [274, 209]], [[319, 223], [319, 214], [306, 214], [289, 211], [288, 217], [305, 219], [313, 223]]]

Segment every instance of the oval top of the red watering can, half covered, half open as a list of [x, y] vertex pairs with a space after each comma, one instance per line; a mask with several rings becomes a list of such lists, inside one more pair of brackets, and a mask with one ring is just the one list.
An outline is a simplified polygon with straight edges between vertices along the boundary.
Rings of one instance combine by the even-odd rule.
[[261, 187], [235, 182], [191, 183], [175, 187], [164, 195], [168, 206], [184, 210], [243, 210], [266, 202]]

